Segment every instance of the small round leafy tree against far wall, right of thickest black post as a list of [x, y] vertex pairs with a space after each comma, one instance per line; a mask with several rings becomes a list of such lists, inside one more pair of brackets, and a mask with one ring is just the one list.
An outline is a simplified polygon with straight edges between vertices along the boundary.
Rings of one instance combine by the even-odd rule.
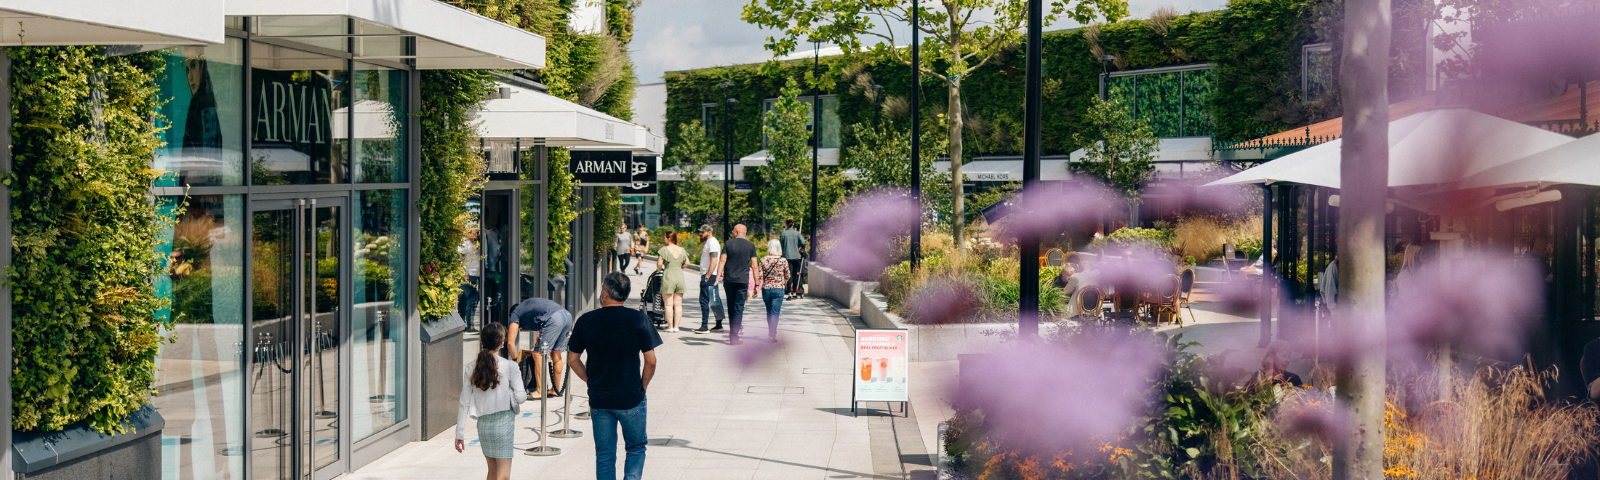
[[1074, 134], [1075, 141], [1088, 146], [1077, 168], [1122, 192], [1125, 200], [1138, 203], [1139, 184], [1155, 173], [1150, 160], [1155, 160], [1160, 141], [1149, 123], [1133, 117], [1123, 98], [1110, 94], [1109, 99], [1094, 99], [1094, 106], [1085, 112], [1093, 130], [1088, 136]]

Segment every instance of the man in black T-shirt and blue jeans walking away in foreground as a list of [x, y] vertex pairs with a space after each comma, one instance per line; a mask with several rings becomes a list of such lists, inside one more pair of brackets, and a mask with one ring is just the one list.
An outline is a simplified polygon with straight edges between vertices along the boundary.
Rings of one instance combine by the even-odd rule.
[[[624, 307], [629, 285], [622, 272], [600, 280], [602, 307], [578, 317], [568, 339], [566, 363], [589, 384], [589, 418], [595, 429], [595, 478], [616, 480], [616, 430], [622, 430], [627, 459], [622, 478], [645, 475], [645, 389], [656, 376], [656, 347], [661, 334], [650, 318]], [[589, 362], [582, 362], [582, 354]], [[643, 366], [640, 366], [643, 357]]]

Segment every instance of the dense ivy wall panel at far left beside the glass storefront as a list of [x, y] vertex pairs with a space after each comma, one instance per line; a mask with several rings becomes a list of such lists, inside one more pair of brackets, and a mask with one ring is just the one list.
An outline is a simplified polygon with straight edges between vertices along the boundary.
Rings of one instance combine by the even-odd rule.
[[181, 205], [158, 208], [160, 53], [96, 46], [8, 48], [14, 258], [8, 282], [16, 429], [101, 432], [154, 394], [166, 299], [154, 248]]

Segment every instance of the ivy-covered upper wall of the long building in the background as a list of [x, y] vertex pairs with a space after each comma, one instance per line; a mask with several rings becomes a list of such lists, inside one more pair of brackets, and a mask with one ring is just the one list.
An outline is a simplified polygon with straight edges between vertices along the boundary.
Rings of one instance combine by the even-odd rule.
[[[1394, 5], [1397, 27], [1390, 98], [1400, 101], [1421, 93], [1424, 66], [1419, 59], [1426, 43], [1424, 26], [1432, 11], [1421, 0], [1397, 0]], [[1338, 51], [1341, 13], [1339, 0], [1232, 0], [1219, 11], [1046, 32], [1043, 150], [1061, 155], [1082, 147], [1074, 142], [1072, 133], [1086, 126], [1083, 112], [1099, 94], [1102, 64], [1096, 51], [1117, 56], [1115, 62], [1104, 66], [1110, 72], [1213, 64], [1214, 83], [1205, 106], [1218, 139], [1250, 139], [1339, 117], [1338, 88], [1328, 98], [1301, 98], [1299, 69], [1304, 45], [1328, 42]], [[1338, 59], [1333, 64], [1338, 66]], [[842, 58], [824, 58], [822, 66], [834, 67], [835, 74], [848, 67]], [[717, 85], [726, 80], [734, 83], [726, 94], [738, 99], [733, 106], [733, 154], [742, 157], [760, 150], [762, 101], [776, 98], [786, 77], [803, 75], [808, 69], [811, 59], [787, 62], [779, 75], [763, 75], [757, 64], [669, 72], [667, 141], [677, 139], [677, 125], [701, 118], [702, 102], [723, 99], [723, 88]], [[862, 70], [872, 83], [883, 86], [883, 94], [909, 96], [909, 67], [878, 59], [869, 61]], [[1021, 152], [1024, 75], [1026, 56], [1018, 46], [962, 83], [970, 115], [966, 160]], [[861, 94], [861, 88], [853, 88], [853, 82], [838, 75], [826, 82], [824, 93], [842, 94], [838, 115], [845, 125], [878, 118], [877, 106]], [[922, 82], [920, 118], [936, 122], [946, 110], [944, 86], [930, 75], [923, 75]], [[850, 146], [854, 139], [848, 134], [850, 128], [845, 131], [845, 144]]]

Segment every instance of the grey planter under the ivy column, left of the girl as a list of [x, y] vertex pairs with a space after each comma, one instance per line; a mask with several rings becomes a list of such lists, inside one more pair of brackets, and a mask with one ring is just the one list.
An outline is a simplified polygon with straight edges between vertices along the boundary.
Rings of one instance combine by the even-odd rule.
[[456, 426], [466, 331], [467, 323], [458, 314], [422, 323], [422, 438]]

